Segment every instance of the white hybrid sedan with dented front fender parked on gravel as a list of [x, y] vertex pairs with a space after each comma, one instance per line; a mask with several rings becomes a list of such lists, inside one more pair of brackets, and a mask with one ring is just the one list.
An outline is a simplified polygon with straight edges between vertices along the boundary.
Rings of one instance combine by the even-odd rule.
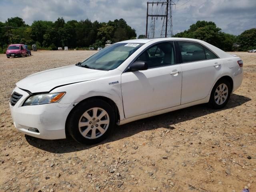
[[223, 108], [242, 83], [243, 61], [204, 41], [136, 39], [112, 44], [76, 65], [19, 81], [14, 126], [43, 139], [102, 141], [115, 124], [208, 103]]

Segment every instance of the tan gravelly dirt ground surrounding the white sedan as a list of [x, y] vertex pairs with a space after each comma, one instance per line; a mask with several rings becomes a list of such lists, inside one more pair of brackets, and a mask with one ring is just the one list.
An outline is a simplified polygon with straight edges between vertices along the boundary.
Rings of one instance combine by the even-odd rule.
[[222, 110], [198, 105], [138, 120], [92, 146], [17, 132], [8, 105], [15, 83], [94, 52], [0, 55], [0, 191], [256, 191], [256, 53], [232, 53], [244, 60], [244, 80]]

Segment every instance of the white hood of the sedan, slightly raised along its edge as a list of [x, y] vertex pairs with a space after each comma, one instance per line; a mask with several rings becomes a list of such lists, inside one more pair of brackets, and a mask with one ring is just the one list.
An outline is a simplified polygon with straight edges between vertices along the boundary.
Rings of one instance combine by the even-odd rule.
[[107, 71], [71, 65], [32, 74], [17, 82], [16, 85], [32, 93], [49, 92], [58, 86], [98, 79], [106, 73]]

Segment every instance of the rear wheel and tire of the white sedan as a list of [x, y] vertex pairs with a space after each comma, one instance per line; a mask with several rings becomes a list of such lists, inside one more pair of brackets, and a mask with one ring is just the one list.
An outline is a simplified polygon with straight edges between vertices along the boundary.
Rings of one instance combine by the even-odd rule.
[[221, 79], [216, 82], [212, 88], [208, 105], [214, 109], [221, 109], [228, 103], [231, 94], [230, 82], [226, 79]]

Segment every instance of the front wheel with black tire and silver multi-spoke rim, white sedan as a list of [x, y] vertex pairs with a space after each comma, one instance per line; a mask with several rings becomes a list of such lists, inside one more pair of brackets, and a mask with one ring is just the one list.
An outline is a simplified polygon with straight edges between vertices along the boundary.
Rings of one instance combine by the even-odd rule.
[[75, 106], [66, 121], [66, 129], [77, 142], [96, 144], [110, 134], [115, 123], [114, 110], [110, 104], [90, 99]]

